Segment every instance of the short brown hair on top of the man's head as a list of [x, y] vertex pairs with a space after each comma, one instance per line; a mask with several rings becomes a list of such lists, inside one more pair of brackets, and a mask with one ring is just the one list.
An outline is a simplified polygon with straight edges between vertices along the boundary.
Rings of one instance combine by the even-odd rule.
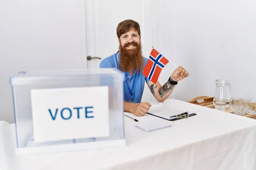
[[138, 34], [140, 36], [140, 25], [139, 25], [139, 23], [137, 23], [134, 20], [124, 20], [121, 23], [119, 23], [118, 26], [116, 27], [117, 37], [120, 38], [120, 36], [122, 34], [125, 34], [126, 32], [128, 32], [132, 28], [134, 28], [136, 31], [138, 31]]

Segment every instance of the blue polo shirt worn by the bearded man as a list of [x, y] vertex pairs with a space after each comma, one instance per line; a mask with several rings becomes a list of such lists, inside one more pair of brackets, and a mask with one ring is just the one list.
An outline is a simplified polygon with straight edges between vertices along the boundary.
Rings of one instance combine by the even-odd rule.
[[[148, 59], [145, 57], [143, 57], [143, 59], [144, 59], [144, 67], [145, 67]], [[118, 63], [119, 63], [119, 51], [103, 59], [102, 62], [100, 62], [99, 64], [99, 68], [116, 68], [120, 70]], [[131, 75], [125, 72], [126, 81], [124, 83], [124, 100], [126, 102], [132, 102], [132, 103], [141, 102], [145, 81], [146, 82], [150, 81], [148, 78], [146, 78], [142, 74], [142, 72], [143, 70], [140, 71], [139, 73], [136, 73], [136, 71], [133, 71]], [[129, 88], [131, 90], [131, 93]], [[132, 96], [133, 96], [133, 101], [132, 101]]]

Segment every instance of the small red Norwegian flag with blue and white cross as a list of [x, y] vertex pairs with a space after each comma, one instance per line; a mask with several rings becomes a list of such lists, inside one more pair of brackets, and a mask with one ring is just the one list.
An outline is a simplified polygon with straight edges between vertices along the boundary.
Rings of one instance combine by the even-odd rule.
[[142, 74], [156, 84], [162, 69], [168, 62], [168, 59], [153, 48]]

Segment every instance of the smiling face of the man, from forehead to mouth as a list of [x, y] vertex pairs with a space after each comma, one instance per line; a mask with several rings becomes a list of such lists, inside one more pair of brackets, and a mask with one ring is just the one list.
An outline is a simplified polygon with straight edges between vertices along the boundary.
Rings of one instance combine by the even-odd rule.
[[134, 51], [140, 45], [140, 36], [138, 31], [131, 29], [125, 34], [122, 34], [119, 39], [119, 44], [122, 48], [125, 48], [127, 51]]

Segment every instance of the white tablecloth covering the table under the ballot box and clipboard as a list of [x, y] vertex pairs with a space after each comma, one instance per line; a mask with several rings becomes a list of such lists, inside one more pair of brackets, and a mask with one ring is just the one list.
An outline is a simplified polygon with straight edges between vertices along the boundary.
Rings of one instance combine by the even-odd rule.
[[6, 165], [10, 170], [256, 170], [256, 120], [176, 99], [163, 104], [197, 116], [152, 132], [125, 117], [126, 147], [15, 156], [15, 125], [5, 125]]

